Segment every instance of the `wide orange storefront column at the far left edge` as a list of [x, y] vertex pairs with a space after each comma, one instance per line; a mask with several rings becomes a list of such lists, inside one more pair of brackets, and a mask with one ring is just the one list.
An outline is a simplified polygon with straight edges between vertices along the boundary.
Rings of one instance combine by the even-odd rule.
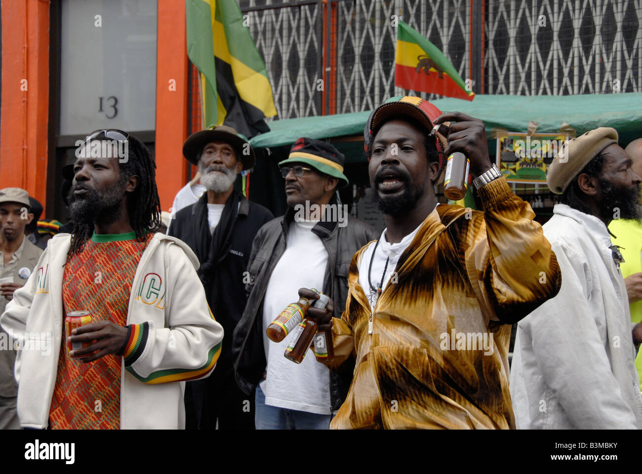
[[2, 1], [0, 188], [17, 186], [46, 206], [49, 1]]

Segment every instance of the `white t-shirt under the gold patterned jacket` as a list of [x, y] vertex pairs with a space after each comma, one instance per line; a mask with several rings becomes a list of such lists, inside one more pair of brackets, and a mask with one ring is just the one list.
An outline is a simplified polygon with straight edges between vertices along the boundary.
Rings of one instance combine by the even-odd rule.
[[[433, 209], [433, 213], [437, 212], [437, 206]], [[397, 243], [388, 243], [386, 240], [386, 231], [388, 228], [383, 229], [381, 237], [379, 237], [379, 245], [376, 245], [376, 242], [370, 243], [368, 248], [363, 252], [361, 256], [361, 264], [359, 265], [359, 285], [363, 288], [363, 292], [370, 303], [370, 309], [374, 310], [374, 304], [376, 303], [376, 288], [381, 283], [381, 276], [383, 275], [384, 268], [386, 269], [386, 274], [383, 276], [383, 285], [381, 286], [381, 292], [386, 289], [392, 273], [397, 268], [397, 263], [399, 262], [399, 257], [403, 254], [404, 250], [408, 248], [408, 245], [412, 242], [419, 227], [424, 223], [422, 222], [417, 226], [417, 229], [412, 231], [410, 234], [406, 235], [401, 241]], [[374, 259], [372, 260], [372, 268], [370, 268], [370, 259], [372, 258], [372, 252], [374, 247], [377, 247], [377, 252], [374, 254]], [[386, 259], [388, 259], [388, 267], [386, 268]], [[374, 286], [374, 290], [370, 288], [368, 282], [368, 270], [370, 270], [370, 283]]]

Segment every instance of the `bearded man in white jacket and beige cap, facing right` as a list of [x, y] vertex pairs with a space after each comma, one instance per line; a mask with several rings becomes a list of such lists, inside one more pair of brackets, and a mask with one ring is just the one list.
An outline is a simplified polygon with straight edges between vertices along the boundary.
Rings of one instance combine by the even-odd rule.
[[544, 224], [562, 271], [559, 294], [519, 322], [510, 394], [517, 428], [642, 428], [621, 254], [607, 226], [639, 219], [640, 177], [613, 128], [571, 139], [546, 182], [560, 194]]

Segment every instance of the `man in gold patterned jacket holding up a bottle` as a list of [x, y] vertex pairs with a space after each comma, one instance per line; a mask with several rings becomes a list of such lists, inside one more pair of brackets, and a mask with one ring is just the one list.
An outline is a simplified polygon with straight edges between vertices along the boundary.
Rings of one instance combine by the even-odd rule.
[[[447, 121], [445, 136], [430, 135]], [[392, 98], [370, 116], [365, 149], [386, 229], [354, 255], [341, 319], [330, 317], [333, 304], [308, 310], [332, 328], [327, 365], [355, 364], [331, 428], [515, 428], [510, 324], [561, 281], [541, 225], [491, 164], [478, 119]], [[437, 205], [453, 152], [468, 157], [483, 212]]]

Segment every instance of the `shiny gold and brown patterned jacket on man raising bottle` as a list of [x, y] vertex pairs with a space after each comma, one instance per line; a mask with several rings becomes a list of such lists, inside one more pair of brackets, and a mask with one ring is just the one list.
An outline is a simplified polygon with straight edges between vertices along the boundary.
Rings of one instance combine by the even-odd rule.
[[333, 370], [352, 384], [331, 428], [515, 428], [508, 391], [510, 324], [560, 288], [555, 254], [531, 207], [501, 177], [484, 211], [437, 206], [374, 307], [350, 267]]

